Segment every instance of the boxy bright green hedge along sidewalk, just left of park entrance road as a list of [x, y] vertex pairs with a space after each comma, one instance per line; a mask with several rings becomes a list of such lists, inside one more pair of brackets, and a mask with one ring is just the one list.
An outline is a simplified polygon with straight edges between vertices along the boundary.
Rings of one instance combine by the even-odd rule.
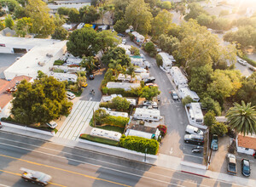
[[151, 155], [156, 155], [159, 149], [159, 144], [155, 139], [145, 139], [137, 136], [123, 135], [119, 145], [128, 150], [136, 150], [137, 152], [142, 153], [145, 153], [147, 148], [147, 154]]

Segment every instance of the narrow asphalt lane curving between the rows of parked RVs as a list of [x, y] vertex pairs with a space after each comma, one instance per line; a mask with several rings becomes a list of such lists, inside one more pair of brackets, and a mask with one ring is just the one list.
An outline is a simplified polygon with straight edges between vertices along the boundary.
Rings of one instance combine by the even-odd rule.
[[[126, 37], [126, 41], [128, 45], [138, 48], [128, 37]], [[159, 152], [166, 155], [183, 157], [184, 161], [202, 163], [202, 153], [192, 153], [191, 149], [195, 145], [185, 144], [183, 141], [185, 128], [189, 124], [189, 120], [180, 100], [174, 101], [172, 99], [170, 91], [174, 88], [166, 76], [166, 72], [160, 70], [154, 58], [149, 57], [143, 50], [140, 50], [140, 52], [144, 54], [145, 58], [151, 64], [151, 68], [149, 68], [150, 75], [155, 77], [155, 83], [158, 84], [161, 91], [159, 108], [161, 116], [165, 116], [167, 134], [160, 145]]]

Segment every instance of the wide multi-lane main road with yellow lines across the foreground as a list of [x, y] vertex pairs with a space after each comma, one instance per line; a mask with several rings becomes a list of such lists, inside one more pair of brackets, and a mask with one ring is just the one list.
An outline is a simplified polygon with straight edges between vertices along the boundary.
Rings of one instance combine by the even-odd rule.
[[20, 167], [48, 173], [49, 186], [238, 186], [141, 162], [0, 132], [0, 186], [37, 186]]

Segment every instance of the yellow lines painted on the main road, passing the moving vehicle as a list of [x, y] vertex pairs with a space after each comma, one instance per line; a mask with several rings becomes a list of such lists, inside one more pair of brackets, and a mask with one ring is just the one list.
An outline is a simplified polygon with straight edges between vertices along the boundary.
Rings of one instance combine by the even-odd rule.
[[[27, 163], [31, 163], [31, 164], [42, 166], [42, 167], [49, 167], [49, 168], [56, 169], [56, 170], [63, 171], [63, 172], [67, 172], [67, 173], [77, 174], [77, 175], [83, 176], [85, 178], [93, 178], [93, 179], [96, 179], [96, 180], [102, 180], [104, 182], [108, 182], [108, 183], [112, 183], [112, 184], [118, 184], [118, 185], [121, 185], [121, 186], [130, 187], [129, 185], [126, 185], [126, 184], [116, 183], [116, 182], [113, 182], [111, 180], [107, 180], [107, 179], [103, 179], [103, 178], [96, 178], [96, 177], [93, 177], [93, 176], [90, 176], [90, 175], [86, 175], [86, 174], [83, 174], [83, 173], [76, 173], [76, 172], [69, 171], [69, 170], [66, 170], [66, 169], [61, 169], [59, 167], [51, 167], [49, 165], [40, 164], [40, 163], [34, 162], [34, 161], [26, 161], [24, 159], [16, 158], [16, 157], [13, 157], [13, 156], [5, 156], [5, 155], [1, 155], [1, 154], [0, 154], [0, 156], [7, 157], [7, 158], [10, 158], [10, 159], [14, 159], [14, 160], [17, 160], [17, 161], [25, 161]], [[0, 170], [0, 172], [21, 176], [20, 173], [11, 173], [11, 172], [4, 171], [4, 170]], [[61, 184], [55, 184], [55, 183], [49, 183], [49, 184], [54, 184], [54, 185], [57, 185], [57, 186], [66, 187], [66, 186], [61, 185]]]

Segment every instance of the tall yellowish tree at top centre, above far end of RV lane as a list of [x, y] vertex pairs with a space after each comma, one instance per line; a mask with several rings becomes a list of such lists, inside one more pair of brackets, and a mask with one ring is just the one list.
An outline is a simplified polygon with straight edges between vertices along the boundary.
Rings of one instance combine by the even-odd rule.
[[149, 5], [144, 0], [131, 0], [125, 11], [125, 20], [143, 35], [151, 30], [152, 18]]

